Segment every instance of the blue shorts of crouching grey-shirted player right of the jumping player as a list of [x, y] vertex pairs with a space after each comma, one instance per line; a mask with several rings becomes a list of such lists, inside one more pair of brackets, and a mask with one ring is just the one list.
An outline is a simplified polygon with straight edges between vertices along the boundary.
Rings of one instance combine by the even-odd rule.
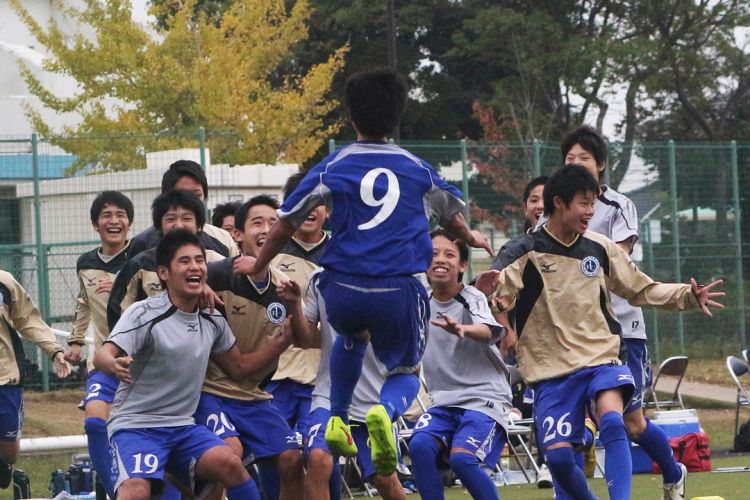
[[464, 448], [491, 467], [500, 460], [507, 441], [505, 429], [492, 417], [454, 406], [427, 410], [414, 426], [414, 434], [418, 433], [427, 433], [443, 443], [446, 457], [451, 448]]

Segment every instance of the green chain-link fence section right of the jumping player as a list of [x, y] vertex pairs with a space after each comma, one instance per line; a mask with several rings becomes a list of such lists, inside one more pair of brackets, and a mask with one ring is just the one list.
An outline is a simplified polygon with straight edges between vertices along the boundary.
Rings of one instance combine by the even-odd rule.
[[[563, 163], [557, 145], [540, 142], [401, 145], [462, 189], [472, 225], [492, 237], [495, 249], [525, 229], [521, 198], [526, 183]], [[342, 146], [330, 144], [331, 149]], [[634, 261], [663, 282], [721, 278], [727, 292], [722, 300], [726, 308], [714, 311], [713, 318], [699, 311], [646, 308], [652, 357], [723, 357], [747, 347], [744, 275], [750, 271], [750, 224], [741, 214], [750, 208], [750, 145], [669, 141], [626, 149], [611, 143], [609, 155], [605, 183], [615, 180], [611, 187], [627, 195], [638, 210], [640, 239]], [[474, 251], [472, 257], [469, 276], [489, 268], [490, 259], [483, 252]]]

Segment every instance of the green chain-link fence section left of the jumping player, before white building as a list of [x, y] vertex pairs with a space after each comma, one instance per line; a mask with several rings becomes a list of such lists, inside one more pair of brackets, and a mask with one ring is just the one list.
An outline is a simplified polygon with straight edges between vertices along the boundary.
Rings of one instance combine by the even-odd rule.
[[[13, 274], [54, 328], [70, 331], [79, 283], [78, 257], [99, 245], [91, 202], [118, 190], [133, 202], [134, 236], [152, 224], [151, 203], [167, 167], [189, 159], [206, 168], [207, 215], [217, 204], [266, 193], [279, 197], [298, 165], [236, 165], [241, 142], [231, 133], [162, 136], [0, 137], [0, 269]], [[48, 360], [24, 342], [25, 386], [80, 384], [81, 373], [60, 381]], [[85, 363], [81, 364], [83, 370]]]

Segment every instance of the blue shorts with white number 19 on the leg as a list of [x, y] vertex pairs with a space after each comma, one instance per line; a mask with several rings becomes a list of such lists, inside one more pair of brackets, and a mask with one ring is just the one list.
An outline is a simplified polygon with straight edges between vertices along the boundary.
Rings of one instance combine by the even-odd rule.
[[202, 425], [121, 429], [110, 438], [116, 472], [115, 490], [132, 478], [155, 479], [152, 495], [164, 487], [164, 472], [195, 489], [195, 463], [217, 446], [226, 446]]

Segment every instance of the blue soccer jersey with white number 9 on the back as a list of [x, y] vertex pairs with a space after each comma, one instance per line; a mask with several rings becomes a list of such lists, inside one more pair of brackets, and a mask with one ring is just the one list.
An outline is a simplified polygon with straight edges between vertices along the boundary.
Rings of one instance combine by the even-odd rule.
[[312, 209], [331, 211], [331, 241], [321, 265], [361, 276], [402, 276], [432, 260], [429, 218], [464, 210], [461, 192], [425, 161], [386, 143], [356, 142], [305, 176], [279, 216], [299, 227]]

